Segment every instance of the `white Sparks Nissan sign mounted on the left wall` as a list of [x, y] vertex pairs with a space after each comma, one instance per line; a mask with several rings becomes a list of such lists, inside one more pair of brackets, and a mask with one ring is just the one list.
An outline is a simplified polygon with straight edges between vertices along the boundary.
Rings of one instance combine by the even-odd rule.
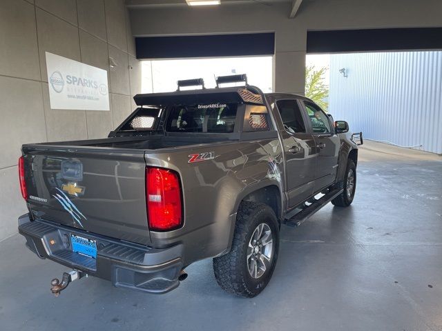
[[109, 110], [108, 72], [46, 52], [52, 109]]

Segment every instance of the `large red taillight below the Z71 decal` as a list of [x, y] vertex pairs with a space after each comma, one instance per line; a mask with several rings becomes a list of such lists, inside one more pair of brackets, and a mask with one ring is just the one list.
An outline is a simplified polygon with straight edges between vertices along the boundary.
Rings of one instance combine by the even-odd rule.
[[146, 205], [150, 230], [168, 231], [182, 225], [180, 177], [172, 170], [146, 168]]

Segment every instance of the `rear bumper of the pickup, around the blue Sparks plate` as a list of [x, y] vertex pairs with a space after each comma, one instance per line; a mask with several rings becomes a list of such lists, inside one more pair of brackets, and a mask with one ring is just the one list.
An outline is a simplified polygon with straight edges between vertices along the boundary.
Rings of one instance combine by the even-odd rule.
[[[44, 220], [31, 221], [28, 214], [19, 217], [19, 233], [41, 259], [106, 279], [117, 287], [162, 294], [180, 285], [183, 245], [146, 248]], [[95, 240], [97, 258], [73, 252], [72, 234]]]

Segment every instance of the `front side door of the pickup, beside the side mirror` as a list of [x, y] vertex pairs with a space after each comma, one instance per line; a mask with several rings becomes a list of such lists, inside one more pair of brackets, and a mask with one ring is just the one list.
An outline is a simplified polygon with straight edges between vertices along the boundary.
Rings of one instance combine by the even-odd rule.
[[327, 114], [314, 103], [309, 101], [303, 101], [303, 103], [309, 117], [311, 133], [319, 152], [314, 185], [314, 191], [318, 192], [332, 184], [336, 179], [340, 140], [334, 132]]

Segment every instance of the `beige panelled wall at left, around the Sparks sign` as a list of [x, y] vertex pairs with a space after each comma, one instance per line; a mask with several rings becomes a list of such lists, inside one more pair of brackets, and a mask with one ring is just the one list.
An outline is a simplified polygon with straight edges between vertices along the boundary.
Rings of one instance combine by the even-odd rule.
[[[46, 51], [108, 70], [111, 111], [50, 109]], [[109, 57], [118, 66], [110, 68]], [[106, 137], [130, 114], [140, 89], [124, 0], [0, 1], [0, 240], [17, 232], [26, 212], [21, 145]]]

